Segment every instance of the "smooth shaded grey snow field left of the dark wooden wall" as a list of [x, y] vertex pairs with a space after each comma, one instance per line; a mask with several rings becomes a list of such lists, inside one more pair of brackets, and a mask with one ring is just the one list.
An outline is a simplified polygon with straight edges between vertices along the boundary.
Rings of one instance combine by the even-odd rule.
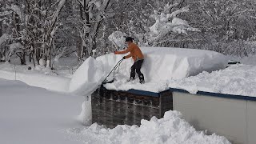
[[3, 79], [0, 91], [0, 143], [83, 143], [70, 139], [65, 131], [82, 127], [78, 114], [84, 97]]

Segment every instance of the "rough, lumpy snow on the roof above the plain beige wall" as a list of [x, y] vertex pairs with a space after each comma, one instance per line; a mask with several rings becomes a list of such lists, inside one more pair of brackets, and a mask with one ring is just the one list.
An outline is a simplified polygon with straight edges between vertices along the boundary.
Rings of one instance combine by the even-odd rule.
[[212, 73], [170, 80], [169, 86], [196, 94], [198, 90], [256, 97], [256, 66], [234, 65]]

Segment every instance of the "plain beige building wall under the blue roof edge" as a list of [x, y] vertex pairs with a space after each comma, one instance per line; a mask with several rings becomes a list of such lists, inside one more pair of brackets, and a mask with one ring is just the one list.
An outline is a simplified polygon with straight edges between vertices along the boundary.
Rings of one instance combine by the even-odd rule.
[[256, 102], [173, 92], [174, 110], [197, 130], [223, 135], [232, 143], [256, 143]]

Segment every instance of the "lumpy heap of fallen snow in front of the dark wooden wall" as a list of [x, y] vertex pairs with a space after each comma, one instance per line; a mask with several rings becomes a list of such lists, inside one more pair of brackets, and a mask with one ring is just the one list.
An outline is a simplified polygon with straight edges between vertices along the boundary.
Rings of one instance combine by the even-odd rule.
[[225, 138], [216, 134], [206, 135], [196, 131], [193, 126], [183, 120], [178, 111], [168, 111], [164, 118], [153, 117], [150, 121], [142, 120], [141, 126], [119, 125], [114, 129], [106, 129], [94, 123], [85, 129], [66, 130], [88, 143], [166, 143], [166, 144], [230, 144]]

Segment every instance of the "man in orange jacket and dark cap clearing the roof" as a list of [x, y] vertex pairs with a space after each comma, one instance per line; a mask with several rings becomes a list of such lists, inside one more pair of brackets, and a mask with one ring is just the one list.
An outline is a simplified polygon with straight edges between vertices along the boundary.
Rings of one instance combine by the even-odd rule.
[[135, 71], [138, 74], [139, 82], [145, 83], [144, 75], [141, 72], [142, 63], [144, 62], [144, 55], [142, 54], [142, 50], [133, 42], [134, 38], [126, 37], [126, 43], [128, 48], [123, 51], [115, 51], [114, 54], [126, 54], [130, 52], [130, 54], [123, 57], [123, 59], [132, 57], [134, 59], [133, 66], [130, 67], [130, 79], [128, 82], [133, 81], [135, 79]]

